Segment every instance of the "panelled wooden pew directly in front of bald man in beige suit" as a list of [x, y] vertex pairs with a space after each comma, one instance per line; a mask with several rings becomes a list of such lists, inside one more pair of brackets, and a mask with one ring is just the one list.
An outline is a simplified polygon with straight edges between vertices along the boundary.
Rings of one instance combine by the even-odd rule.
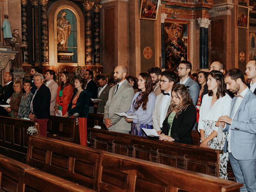
[[89, 128], [92, 148], [219, 176], [220, 150]]

